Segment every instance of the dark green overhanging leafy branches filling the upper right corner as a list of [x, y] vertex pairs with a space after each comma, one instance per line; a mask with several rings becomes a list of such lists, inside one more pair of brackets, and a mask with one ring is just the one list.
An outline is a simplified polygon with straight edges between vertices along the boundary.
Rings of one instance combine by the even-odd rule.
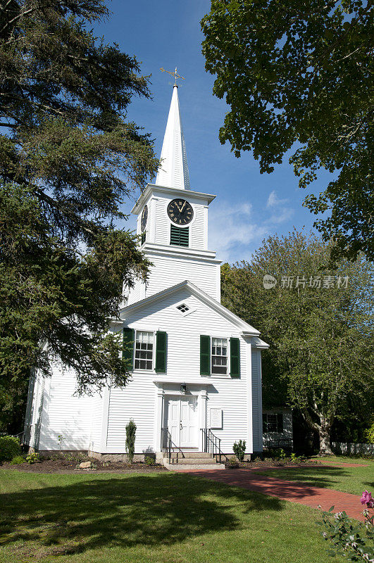
[[213, 0], [201, 27], [213, 92], [230, 107], [220, 141], [253, 151], [261, 172], [296, 146], [303, 188], [333, 172], [304, 205], [326, 212], [315, 225], [335, 257], [373, 260], [373, 4]]

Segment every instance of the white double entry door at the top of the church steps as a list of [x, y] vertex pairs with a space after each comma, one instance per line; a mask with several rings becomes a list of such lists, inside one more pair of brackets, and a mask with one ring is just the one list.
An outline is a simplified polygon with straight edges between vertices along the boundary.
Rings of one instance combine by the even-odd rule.
[[197, 448], [197, 397], [166, 397], [163, 426], [168, 427], [174, 445], [179, 448]]

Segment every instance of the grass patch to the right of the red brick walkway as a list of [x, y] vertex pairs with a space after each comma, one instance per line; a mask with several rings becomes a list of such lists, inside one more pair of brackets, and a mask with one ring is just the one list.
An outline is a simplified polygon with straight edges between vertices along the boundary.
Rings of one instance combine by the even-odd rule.
[[349, 462], [355, 464], [367, 464], [367, 467], [325, 467], [325, 464], [309, 467], [292, 467], [292, 469], [271, 469], [262, 471], [263, 475], [280, 477], [280, 479], [290, 479], [292, 481], [302, 481], [309, 486], [334, 488], [344, 493], [361, 495], [367, 489], [374, 495], [374, 461], [371, 460], [351, 460], [349, 457], [331, 457], [331, 462]]

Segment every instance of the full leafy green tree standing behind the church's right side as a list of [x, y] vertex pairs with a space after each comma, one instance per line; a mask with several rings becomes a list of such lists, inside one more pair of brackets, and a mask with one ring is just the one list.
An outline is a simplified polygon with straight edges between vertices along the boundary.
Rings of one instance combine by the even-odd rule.
[[[374, 399], [370, 262], [341, 259], [330, 270], [329, 255], [314, 234], [270, 236], [251, 262], [225, 265], [222, 275], [223, 304], [270, 344], [264, 400], [297, 407], [321, 453], [331, 453], [335, 420], [368, 417]], [[277, 280], [270, 289], [266, 275]]]

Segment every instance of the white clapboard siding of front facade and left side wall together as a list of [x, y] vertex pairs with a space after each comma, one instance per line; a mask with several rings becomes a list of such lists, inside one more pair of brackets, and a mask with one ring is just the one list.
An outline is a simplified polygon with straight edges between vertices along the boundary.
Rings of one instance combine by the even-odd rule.
[[[192, 312], [183, 316], [176, 305], [181, 301]], [[223, 410], [223, 428], [213, 433], [221, 439], [221, 448], [232, 453], [232, 445], [239, 439], [247, 441], [247, 452], [251, 452], [248, 409], [251, 386], [253, 393], [252, 422], [254, 427], [254, 450], [261, 450], [261, 362], [258, 350], [252, 350], [251, 369], [247, 365], [249, 342], [240, 336], [239, 329], [229, 320], [193, 296], [187, 289], [151, 303], [147, 308], [134, 311], [125, 319], [125, 326], [133, 329], [161, 330], [168, 334], [167, 367], [163, 384], [166, 395], [173, 388], [173, 381], [201, 381], [206, 387], [206, 422], [209, 410]], [[205, 377], [200, 375], [200, 334], [225, 337], [235, 336], [240, 340], [240, 378], [230, 376]], [[252, 372], [252, 377], [249, 374]], [[125, 388], [110, 388], [108, 403], [94, 396], [73, 396], [76, 388], [75, 374], [54, 366], [50, 381], [45, 388], [44, 380], [35, 381], [31, 419], [30, 445], [39, 450], [58, 450], [58, 435], [63, 436], [62, 450], [93, 450], [99, 453], [125, 453], [125, 426], [130, 419], [137, 425], [135, 451], [147, 453], [157, 451], [156, 401], [158, 384], [154, 380], [160, 374], [147, 371], [133, 372]], [[168, 380], [170, 379], [170, 384]], [[179, 392], [180, 385], [175, 385]], [[205, 387], [204, 387], [205, 388]], [[104, 395], [103, 395], [104, 396]], [[106, 408], [106, 411], [105, 411]], [[42, 412], [42, 426], [37, 426]], [[39, 413], [39, 415], [38, 415]], [[106, 418], [107, 415], [107, 418]], [[32, 428], [32, 427], [31, 427]], [[39, 430], [38, 430], [39, 429]], [[39, 434], [38, 434], [39, 432]], [[39, 439], [40, 436], [40, 439]], [[39, 439], [39, 446], [37, 445]]]

